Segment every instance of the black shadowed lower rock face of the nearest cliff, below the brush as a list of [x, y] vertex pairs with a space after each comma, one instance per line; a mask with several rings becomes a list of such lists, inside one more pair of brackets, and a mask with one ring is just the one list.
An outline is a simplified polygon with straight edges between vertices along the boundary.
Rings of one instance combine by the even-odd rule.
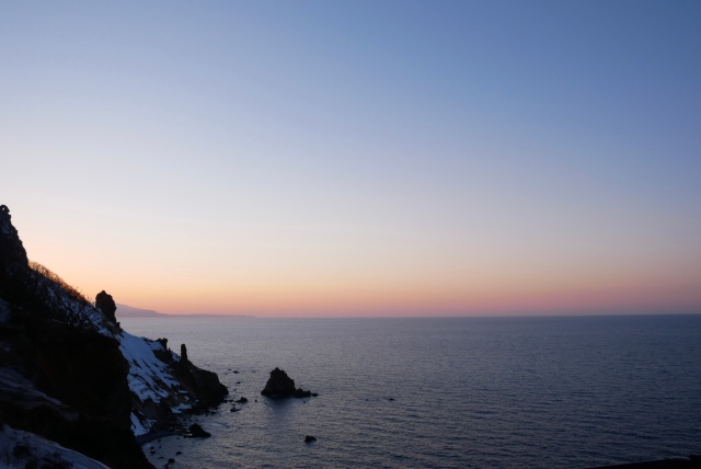
[[97, 459], [148, 468], [117, 341], [13, 311], [0, 324], [0, 422]]

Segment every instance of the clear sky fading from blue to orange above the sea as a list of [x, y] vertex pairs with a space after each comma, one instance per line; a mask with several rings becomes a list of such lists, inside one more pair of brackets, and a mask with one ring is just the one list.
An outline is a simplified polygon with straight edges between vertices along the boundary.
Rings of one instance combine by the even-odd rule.
[[0, 204], [89, 297], [701, 312], [701, 2], [3, 1]]

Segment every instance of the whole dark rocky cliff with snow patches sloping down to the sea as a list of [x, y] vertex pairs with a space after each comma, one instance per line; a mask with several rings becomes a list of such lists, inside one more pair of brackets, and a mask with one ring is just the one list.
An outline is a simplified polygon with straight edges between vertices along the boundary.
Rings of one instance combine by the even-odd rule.
[[[148, 468], [135, 436], [223, 400], [216, 374], [170, 351], [165, 340], [123, 331], [111, 301], [102, 291], [95, 308], [30, 262], [0, 206], [0, 431], [24, 442], [3, 455], [21, 457], [34, 437], [36, 447], [69, 448], [112, 468]], [[2, 454], [0, 466], [45, 466]]]

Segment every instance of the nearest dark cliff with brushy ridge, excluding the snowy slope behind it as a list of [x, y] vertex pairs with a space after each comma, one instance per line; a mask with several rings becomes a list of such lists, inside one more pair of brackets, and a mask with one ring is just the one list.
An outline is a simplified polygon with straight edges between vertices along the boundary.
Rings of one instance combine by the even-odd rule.
[[[95, 310], [28, 262], [0, 206], [0, 425], [54, 441], [111, 467], [149, 468], [131, 433], [129, 366], [99, 333]], [[91, 327], [89, 327], [91, 325]]]

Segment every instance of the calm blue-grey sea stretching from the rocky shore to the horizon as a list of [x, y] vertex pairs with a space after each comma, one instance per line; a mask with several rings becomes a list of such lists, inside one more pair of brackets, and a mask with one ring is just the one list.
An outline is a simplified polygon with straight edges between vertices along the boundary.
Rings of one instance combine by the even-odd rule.
[[[147, 444], [157, 467], [581, 468], [701, 453], [701, 316], [120, 321], [186, 343], [249, 399], [192, 419], [211, 438]], [[275, 367], [320, 396], [262, 397]]]

